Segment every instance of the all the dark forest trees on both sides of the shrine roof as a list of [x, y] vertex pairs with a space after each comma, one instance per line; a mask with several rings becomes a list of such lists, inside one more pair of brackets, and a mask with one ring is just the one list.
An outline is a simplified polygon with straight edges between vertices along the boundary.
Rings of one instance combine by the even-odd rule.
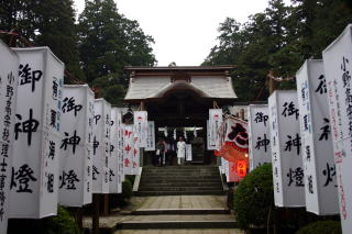
[[[0, 38], [10, 46], [48, 46], [66, 65], [66, 83], [87, 82], [121, 105], [129, 86], [123, 68], [157, 65], [154, 38], [121, 14], [113, 0], [87, 0], [77, 21], [73, 5], [73, 0], [0, 0]], [[265, 101], [270, 70], [294, 77], [305, 59], [321, 58], [349, 23], [351, 0], [292, 0], [290, 5], [270, 0], [243, 24], [233, 18], [220, 23], [218, 42], [201, 65], [234, 65], [238, 101]], [[295, 79], [278, 88], [295, 88]]]

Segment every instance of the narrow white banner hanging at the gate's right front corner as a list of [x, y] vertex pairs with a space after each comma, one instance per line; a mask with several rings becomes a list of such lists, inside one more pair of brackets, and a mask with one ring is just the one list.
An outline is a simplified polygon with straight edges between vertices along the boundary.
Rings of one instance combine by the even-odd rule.
[[218, 130], [222, 123], [222, 110], [209, 109], [209, 144], [211, 148], [219, 149]]

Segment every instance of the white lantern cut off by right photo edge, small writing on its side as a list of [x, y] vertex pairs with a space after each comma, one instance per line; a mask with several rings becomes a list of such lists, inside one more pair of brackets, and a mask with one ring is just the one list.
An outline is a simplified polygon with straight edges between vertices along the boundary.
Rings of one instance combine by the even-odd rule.
[[352, 232], [352, 24], [323, 53], [333, 140], [340, 215], [344, 234]]

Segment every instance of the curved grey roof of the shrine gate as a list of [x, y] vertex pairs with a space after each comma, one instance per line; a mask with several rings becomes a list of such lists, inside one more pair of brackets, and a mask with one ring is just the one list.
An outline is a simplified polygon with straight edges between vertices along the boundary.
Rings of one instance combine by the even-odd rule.
[[229, 71], [233, 66], [127, 67], [128, 102], [161, 99], [174, 91], [191, 91], [201, 98], [235, 99]]

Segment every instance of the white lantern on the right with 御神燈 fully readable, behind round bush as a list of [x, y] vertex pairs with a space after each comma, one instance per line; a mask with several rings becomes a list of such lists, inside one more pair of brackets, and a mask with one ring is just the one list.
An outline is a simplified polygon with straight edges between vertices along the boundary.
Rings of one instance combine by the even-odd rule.
[[276, 90], [268, 98], [268, 120], [276, 207], [305, 205], [305, 178], [296, 90]]

